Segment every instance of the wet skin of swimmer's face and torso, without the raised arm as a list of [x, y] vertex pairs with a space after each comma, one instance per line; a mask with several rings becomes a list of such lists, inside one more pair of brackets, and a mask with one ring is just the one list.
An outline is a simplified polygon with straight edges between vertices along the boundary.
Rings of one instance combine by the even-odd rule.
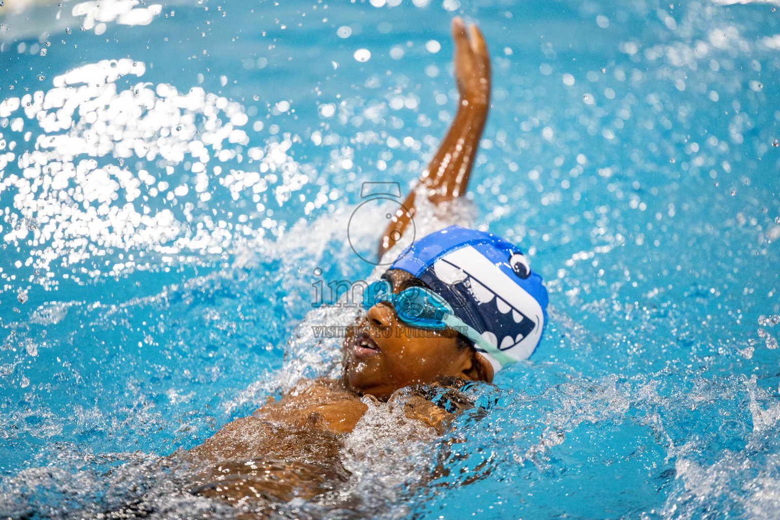
[[[385, 275], [393, 292], [413, 277], [392, 270]], [[385, 401], [404, 387], [444, 378], [489, 380], [490, 364], [473, 348], [462, 348], [456, 332], [424, 331], [403, 324], [387, 302], [371, 307], [344, 341], [342, 380], [303, 380], [279, 401], [270, 399], [251, 417], [224, 426], [190, 450], [203, 470], [192, 492], [226, 501], [289, 501], [311, 498], [346, 482], [340, 462], [341, 435], [351, 433], [368, 398]], [[378, 331], [391, 334], [377, 334]], [[405, 396], [406, 416], [420, 427], [442, 433], [452, 419], [420, 395]]]

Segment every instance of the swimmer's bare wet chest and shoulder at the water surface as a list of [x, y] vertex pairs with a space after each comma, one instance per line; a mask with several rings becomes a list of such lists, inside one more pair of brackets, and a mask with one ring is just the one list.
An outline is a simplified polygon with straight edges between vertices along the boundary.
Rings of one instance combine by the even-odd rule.
[[[406, 395], [402, 406], [420, 427], [439, 433], [453, 417], [419, 394]], [[187, 453], [200, 468], [191, 492], [262, 504], [333, 490], [349, 476], [341, 462], [342, 437], [367, 409], [339, 380], [302, 380], [278, 401], [223, 426]]]

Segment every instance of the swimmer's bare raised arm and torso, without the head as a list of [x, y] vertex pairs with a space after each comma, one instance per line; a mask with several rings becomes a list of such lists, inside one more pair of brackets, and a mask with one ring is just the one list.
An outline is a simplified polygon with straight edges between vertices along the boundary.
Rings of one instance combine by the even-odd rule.
[[[441, 203], [466, 193], [490, 104], [490, 58], [476, 26], [452, 21], [458, 111], [437, 154], [420, 175], [428, 199]], [[395, 245], [414, 215], [415, 194], [382, 235], [379, 255]], [[391, 398], [392, 399], [392, 398]], [[193, 492], [228, 501], [310, 498], [338, 486], [349, 475], [339, 459], [342, 436], [355, 428], [368, 406], [341, 380], [303, 380], [252, 416], [225, 425], [187, 458], [205, 465]], [[407, 397], [404, 412], [420, 427], [440, 433], [451, 414], [420, 395]]]

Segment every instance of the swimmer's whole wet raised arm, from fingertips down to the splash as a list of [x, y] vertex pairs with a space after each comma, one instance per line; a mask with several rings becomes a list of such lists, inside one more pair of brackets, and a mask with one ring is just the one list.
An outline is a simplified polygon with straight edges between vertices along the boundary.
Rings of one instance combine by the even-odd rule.
[[[490, 107], [490, 55], [482, 33], [472, 25], [466, 30], [463, 19], [452, 20], [455, 41], [455, 79], [460, 98], [455, 119], [438, 152], [420, 175], [428, 188], [428, 200], [438, 204], [466, 193], [469, 175], [477, 154], [482, 129]], [[414, 216], [414, 191], [403, 203], [410, 214], [395, 215], [379, 243], [379, 256], [395, 246], [410, 218]]]

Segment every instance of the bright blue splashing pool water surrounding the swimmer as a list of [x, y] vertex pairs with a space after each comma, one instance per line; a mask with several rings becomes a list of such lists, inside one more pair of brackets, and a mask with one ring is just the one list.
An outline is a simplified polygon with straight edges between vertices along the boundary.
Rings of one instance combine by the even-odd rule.
[[443, 439], [369, 414], [345, 502], [284, 514], [778, 518], [780, 4], [741, 1], [6, 0], [0, 517], [235, 515], [158, 457], [338, 370], [314, 285], [371, 274], [349, 216], [436, 150], [460, 15], [466, 209], [544, 275], [545, 338]]

